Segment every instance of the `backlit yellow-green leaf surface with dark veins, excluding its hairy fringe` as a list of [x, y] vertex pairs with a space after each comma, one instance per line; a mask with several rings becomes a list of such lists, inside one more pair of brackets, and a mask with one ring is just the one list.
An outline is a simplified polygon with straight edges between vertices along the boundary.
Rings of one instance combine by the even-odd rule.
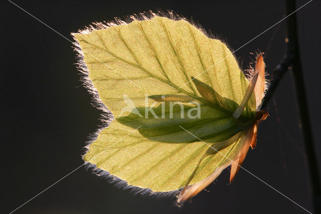
[[[85, 161], [129, 185], [163, 192], [184, 187], [195, 170], [190, 185], [202, 181], [235, 157], [244, 131], [232, 115], [249, 82], [220, 40], [185, 20], [158, 16], [74, 37], [90, 80], [116, 118]], [[181, 104], [171, 106], [175, 101]], [[189, 117], [198, 106], [200, 116]], [[252, 94], [243, 122], [253, 121], [255, 110]], [[209, 153], [198, 138], [220, 153]]]

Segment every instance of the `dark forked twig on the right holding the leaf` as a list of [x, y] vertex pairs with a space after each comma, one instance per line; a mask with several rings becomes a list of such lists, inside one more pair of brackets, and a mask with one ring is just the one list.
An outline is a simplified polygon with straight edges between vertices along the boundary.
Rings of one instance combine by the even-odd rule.
[[[296, 1], [287, 0], [286, 1], [286, 12], [290, 14], [295, 10]], [[294, 76], [294, 83], [296, 86], [296, 94], [297, 101], [299, 106], [299, 115], [302, 124], [302, 133], [305, 144], [305, 152], [308, 163], [308, 170], [310, 175], [310, 184], [312, 190], [312, 205], [315, 213], [321, 213], [321, 189], [319, 183], [319, 174], [317, 168], [317, 162], [314, 153], [314, 144], [312, 138], [312, 131], [309, 121], [308, 108], [307, 108], [307, 100], [305, 96], [305, 88], [304, 88], [304, 79], [302, 74], [302, 66], [300, 61], [300, 53], [298, 46], [298, 35], [297, 35], [297, 24], [296, 24], [296, 15], [295, 13], [292, 16], [289, 16], [287, 21], [287, 52], [280, 62], [279, 65], [276, 66], [272, 75], [273, 80], [271, 82], [270, 88], [266, 93], [264, 98], [264, 102], [262, 104], [262, 108], [264, 108], [270, 97], [272, 96], [275, 88], [278, 83], [282, 79], [285, 72], [288, 68], [292, 67], [292, 72]]]

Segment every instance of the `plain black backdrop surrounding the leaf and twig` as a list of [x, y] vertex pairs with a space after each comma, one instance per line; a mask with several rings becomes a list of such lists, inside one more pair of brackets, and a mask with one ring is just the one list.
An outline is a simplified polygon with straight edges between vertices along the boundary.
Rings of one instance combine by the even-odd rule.
[[[283, 1], [18, 1], [20, 7], [67, 37], [95, 21], [171, 9], [198, 21], [236, 50], [285, 13]], [[301, 6], [307, 0], [297, 1]], [[301, 59], [318, 162], [321, 162], [320, 1], [297, 12]], [[14, 210], [78, 166], [100, 111], [90, 104], [74, 63], [72, 44], [10, 2], [1, 3], [1, 213]], [[273, 34], [275, 35], [273, 37]], [[272, 42], [272, 43], [271, 43]], [[250, 53], [267, 52], [271, 70], [285, 52], [285, 22], [235, 52], [246, 69]], [[251, 59], [252, 58], [252, 59]], [[5, 66], [3, 66], [5, 65]], [[274, 101], [274, 104], [273, 104]], [[291, 72], [285, 74], [259, 126], [257, 148], [243, 167], [311, 210], [308, 171]], [[321, 164], [319, 164], [321, 166]], [[319, 167], [320, 169], [320, 167]], [[208, 191], [183, 208], [120, 190], [80, 168], [16, 213], [304, 213], [249, 173], [229, 184], [225, 170]]]

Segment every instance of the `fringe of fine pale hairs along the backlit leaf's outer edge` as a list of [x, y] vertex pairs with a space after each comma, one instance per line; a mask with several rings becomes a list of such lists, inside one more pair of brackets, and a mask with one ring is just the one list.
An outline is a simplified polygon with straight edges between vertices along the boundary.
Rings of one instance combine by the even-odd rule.
[[[233, 49], [231, 49], [228, 44], [224, 41], [224, 39], [219, 38], [218, 36], [214, 36], [212, 32], [208, 33], [205, 31], [203, 27], [198, 22], [195, 22], [192, 19], [187, 19], [184, 17], [181, 17], [177, 14], [175, 14], [173, 11], [158, 11], [157, 13], [153, 13], [152, 11], [148, 12], [143, 12], [138, 15], [134, 14], [132, 16], [127, 16], [125, 17], [125, 21], [122, 21], [119, 18], [114, 18], [112, 22], [97, 22], [97, 23], [92, 23], [92, 25], [89, 25], [89, 27], [85, 27], [83, 30], [78, 30], [78, 33], [71, 33], [73, 39], [75, 42], [73, 42], [73, 48], [74, 51], [76, 52], [76, 59], [77, 59], [77, 69], [80, 73], [80, 78], [79, 80], [82, 82], [82, 86], [86, 88], [86, 90], [89, 92], [91, 95], [90, 102], [91, 104], [98, 110], [102, 111], [99, 115], [99, 125], [97, 129], [93, 133], [91, 133], [87, 137], [87, 141], [85, 142], [85, 147], [82, 149], [82, 159], [84, 159], [84, 156], [87, 154], [89, 151], [89, 146], [97, 139], [99, 133], [107, 128], [110, 123], [114, 120], [114, 117], [112, 113], [107, 109], [107, 106], [100, 100], [99, 94], [97, 89], [94, 87], [92, 81], [89, 79], [89, 69], [84, 61], [84, 53], [75, 38], [75, 34], [89, 34], [92, 31], [95, 30], [101, 30], [101, 29], [106, 29], [111, 26], [118, 26], [118, 25], [126, 25], [131, 23], [132, 21], [143, 21], [143, 20], [149, 20], [152, 19], [155, 16], [160, 16], [160, 17], [166, 17], [174, 21], [179, 21], [179, 20], [185, 20], [192, 25], [194, 25], [197, 29], [202, 31], [207, 37], [212, 38], [212, 39], [219, 39], [221, 42], [225, 43], [225, 45], [231, 50], [234, 58], [237, 60], [238, 58], [235, 56], [233, 53]], [[238, 61], [238, 60], [237, 60]], [[238, 65], [240, 63], [238, 62]], [[245, 77], [250, 79], [251, 78], [251, 71], [248, 70], [240, 70], [244, 73]], [[247, 73], [246, 73], [247, 72]], [[92, 164], [88, 161], [85, 161], [84, 163], [85, 168], [88, 170], [91, 170], [92, 173], [97, 175], [98, 177], [106, 179], [109, 183], [113, 184], [115, 187], [120, 188], [120, 189], [131, 189], [131, 192], [134, 194], [141, 194], [141, 195], [147, 195], [155, 198], [162, 198], [162, 197], [176, 197], [184, 187], [173, 190], [173, 191], [167, 191], [167, 192], [154, 192], [149, 188], [141, 188], [137, 186], [132, 186], [127, 183], [127, 181], [122, 180], [112, 174], [110, 174], [108, 171], [105, 171], [103, 169], [100, 169], [96, 166], [96, 164]]]

